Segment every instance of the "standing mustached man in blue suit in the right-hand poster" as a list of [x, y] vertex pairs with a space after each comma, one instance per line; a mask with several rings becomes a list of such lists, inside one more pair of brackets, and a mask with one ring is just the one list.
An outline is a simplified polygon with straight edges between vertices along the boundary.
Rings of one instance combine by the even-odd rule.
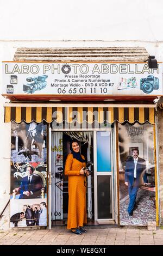
[[132, 149], [133, 156], [126, 161], [125, 184], [128, 186], [130, 202], [128, 205], [128, 214], [133, 216], [137, 192], [141, 186], [143, 176], [144, 185], [148, 184], [146, 175], [146, 161], [139, 156], [139, 149]]

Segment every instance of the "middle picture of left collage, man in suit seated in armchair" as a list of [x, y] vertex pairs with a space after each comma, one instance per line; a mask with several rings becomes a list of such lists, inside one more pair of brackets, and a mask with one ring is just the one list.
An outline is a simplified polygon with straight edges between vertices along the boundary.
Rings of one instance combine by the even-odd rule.
[[46, 178], [46, 163], [11, 163], [10, 199], [46, 198]]

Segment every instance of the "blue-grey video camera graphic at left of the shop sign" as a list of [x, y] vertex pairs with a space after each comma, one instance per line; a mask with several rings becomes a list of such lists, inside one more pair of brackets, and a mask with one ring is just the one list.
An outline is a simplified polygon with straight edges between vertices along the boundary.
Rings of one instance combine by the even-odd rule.
[[27, 77], [26, 84], [23, 84], [23, 92], [33, 94], [36, 90], [42, 90], [47, 86], [46, 78], [47, 75], [37, 76], [37, 77]]

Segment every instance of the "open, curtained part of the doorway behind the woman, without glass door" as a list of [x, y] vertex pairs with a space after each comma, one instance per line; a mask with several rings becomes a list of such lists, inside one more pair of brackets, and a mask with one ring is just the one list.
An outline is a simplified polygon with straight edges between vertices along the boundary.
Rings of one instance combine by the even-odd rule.
[[[49, 130], [50, 132], [50, 130]], [[68, 176], [64, 175], [67, 155], [70, 151], [70, 141], [77, 139], [81, 146], [81, 153], [86, 161], [93, 161], [93, 132], [51, 131], [49, 136], [51, 160], [49, 164], [49, 223], [66, 224], [68, 214]], [[91, 167], [90, 167], [91, 168]], [[92, 167], [93, 168], [93, 167]], [[93, 174], [87, 179], [87, 217], [92, 220], [92, 191]], [[50, 214], [51, 212], [51, 214]], [[50, 221], [51, 220], [51, 221]], [[50, 227], [49, 227], [50, 228]]]

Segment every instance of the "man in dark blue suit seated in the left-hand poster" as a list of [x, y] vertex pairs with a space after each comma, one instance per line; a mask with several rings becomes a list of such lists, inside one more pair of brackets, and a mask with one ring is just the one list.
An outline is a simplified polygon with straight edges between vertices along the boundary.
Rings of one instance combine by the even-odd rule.
[[32, 166], [28, 166], [26, 173], [27, 176], [22, 178], [21, 186], [20, 186], [20, 197], [19, 199], [27, 199], [27, 198], [37, 198], [41, 195], [41, 178], [39, 175], [33, 173], [34, 168]]

